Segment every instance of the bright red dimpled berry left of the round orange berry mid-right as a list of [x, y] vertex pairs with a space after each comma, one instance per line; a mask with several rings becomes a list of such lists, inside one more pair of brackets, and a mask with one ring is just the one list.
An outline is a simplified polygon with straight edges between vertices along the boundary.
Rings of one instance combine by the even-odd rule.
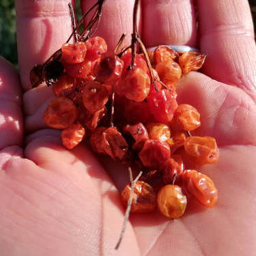
[[150, 113], [154, 115], [155, 122], [167, 124], [173, 119], [173, 114], [177, 109], [177, 101], [167, 89], [160, 91], [152, 90], [147, 97]]

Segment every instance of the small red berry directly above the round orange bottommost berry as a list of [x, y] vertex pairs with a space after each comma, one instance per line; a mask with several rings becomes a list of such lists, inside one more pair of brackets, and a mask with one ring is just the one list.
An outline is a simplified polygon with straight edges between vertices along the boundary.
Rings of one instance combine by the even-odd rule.
[[172, 158], [169, 158], [167, 164], [162, 169], [162, 180], [165, 182], [165, 184], [171, 184], [173, 182], [173, 178], [175, 178], [175, 176], [177, 177], [181, 175], [184, 171], [184, 165], [181, 156], [179, 160], [179, 162], [175, 160], [172, 155]]

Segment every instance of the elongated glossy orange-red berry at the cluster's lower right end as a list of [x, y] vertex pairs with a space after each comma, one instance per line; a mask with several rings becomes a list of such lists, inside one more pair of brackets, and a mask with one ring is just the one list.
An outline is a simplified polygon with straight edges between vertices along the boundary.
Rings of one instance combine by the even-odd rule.
[[218, 190], [210, 177], [195, 170], [182, 173], [182, 186], [202, 205], [212, 208], [218, 200]]

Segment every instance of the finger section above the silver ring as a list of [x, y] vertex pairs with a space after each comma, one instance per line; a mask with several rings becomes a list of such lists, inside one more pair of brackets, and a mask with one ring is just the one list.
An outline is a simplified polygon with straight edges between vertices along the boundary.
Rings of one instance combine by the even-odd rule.
[[197, 45], [197, 23], [192, 0], [143, 0], [143, 39], [159, 44]]

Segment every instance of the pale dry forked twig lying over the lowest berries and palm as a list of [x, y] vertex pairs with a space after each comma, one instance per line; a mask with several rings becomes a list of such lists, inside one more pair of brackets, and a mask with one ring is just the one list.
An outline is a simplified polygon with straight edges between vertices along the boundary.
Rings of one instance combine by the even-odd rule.
[[133, 180], [133, 178], [132, 178], [132, 169], [130, 167], [128, 167], [128, 171], [129, 171], [129, 174], [130, 174], [130, 183], [131, 183], [132, 189], [130, 191], [130, 197], [129, 197], [129, 200], [128, 200], [128, 203], [127, 203], [126, 214], [124, 215], [124, 222], [123, 222], [123, 225], [122, 225], [119, 240], [118, 240], [118, 242], [115, 246], [115, 250], [118, 250], [118, 248], [119, 248], [119, 246], [122, 242], [122, 239], [124, 237], [124, 232], [126, 231], [126, 225], [127, 225], [127, 221], [128, 221], [129, 215], [130, 215], [130, 208], [132, 206], [132, 197], [133, 197], [133, 194], [134, 194], [134, 186], [142, 175], [142, 171], [140, 171], [139, 174], [137, 175], [137, 177]]

